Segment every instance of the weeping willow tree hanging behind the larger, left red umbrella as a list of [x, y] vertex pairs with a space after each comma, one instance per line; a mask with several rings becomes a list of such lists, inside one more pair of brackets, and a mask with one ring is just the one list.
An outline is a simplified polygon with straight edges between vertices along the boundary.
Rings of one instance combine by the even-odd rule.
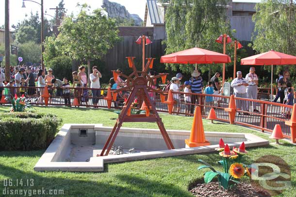
[[[223, 46], [215, 43], [215, 39], [222, 33], [231, 37], [225, 0], [163, 0], [162, 2], [167, 3], [165, 14], [167, 39], [164, 41], [166, 54], [195, 46], [223, 52]], [[193, 69], [193, 66], [186, 64], [168, 64], [168, 66], [171, 66], [172, 70], [179, 68], [184, 73], [189, 73]], [[202, 71], [221, 70], [221, 64], [198, 65], [198, 68]]]

